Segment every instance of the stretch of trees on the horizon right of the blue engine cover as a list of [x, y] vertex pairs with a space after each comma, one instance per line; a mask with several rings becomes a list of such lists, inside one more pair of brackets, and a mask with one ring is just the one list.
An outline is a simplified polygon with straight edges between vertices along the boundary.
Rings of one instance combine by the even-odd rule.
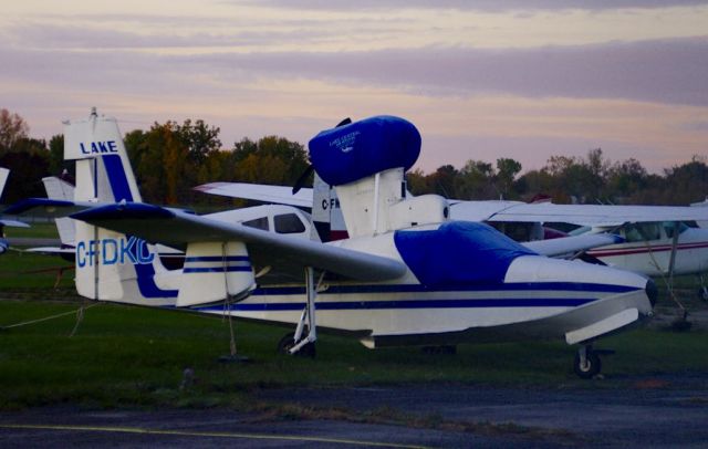
[[556, 203], [688, 205], [708, 197], [706, 157], [663, 174], [647, 173], [637, 159], [613, 163], [601, 148], [585, 157], [551, 156], [545, 166], [523, 175], [521, 164], [499, 158], [496, 165], [468, 160], [461, 169], [445, 165], [426, 175], [408, 174], [414, 195], [438, 194], [457, 199], [510, 199]]

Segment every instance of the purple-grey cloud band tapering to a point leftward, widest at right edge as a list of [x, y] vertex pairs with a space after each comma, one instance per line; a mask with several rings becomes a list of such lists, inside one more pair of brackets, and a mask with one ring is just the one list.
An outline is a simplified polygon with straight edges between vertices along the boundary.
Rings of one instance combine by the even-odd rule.
[[192, 56], [189, 64], [423, 95], [509, 94], [708, 105], [708, 39], [541, 49], [425, 48]]

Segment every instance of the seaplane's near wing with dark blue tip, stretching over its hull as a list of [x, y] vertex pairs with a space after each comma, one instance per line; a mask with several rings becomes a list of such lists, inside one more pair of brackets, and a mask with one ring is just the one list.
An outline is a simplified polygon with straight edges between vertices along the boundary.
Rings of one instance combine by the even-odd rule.
[[301, 280], [305, 267], [363, 281], [402, 276], [406, 265], [397, 260], [285, 234], [227, 223], [140, 202], [115, 203], [71, 216], [90, 224], [136, 236], [150, 243], [184, 249], [205, 241], [242, 241], [257, 267], [272, 267]]

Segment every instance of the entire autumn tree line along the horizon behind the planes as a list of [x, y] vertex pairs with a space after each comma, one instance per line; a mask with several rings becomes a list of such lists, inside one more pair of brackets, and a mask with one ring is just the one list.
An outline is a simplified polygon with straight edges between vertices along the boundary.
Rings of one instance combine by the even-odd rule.
[[[43, 197], [41, 179], [73, 170], [63, 160], [63, 135], [49, 142], [29, 136], [30, 127], [18, 114], [0, 109], [0, 166], [11, 170], [2, 202]], [[163, 205], [222, 205], [230, 200], [202, 195], [192, 187], [205, 182], [240, 181], [292, 186], [306, 169], [302, 144], [283, 137], [242, 138], [226, 148], [220, 129], [201, 119], [179, 124], [154, 123], [124, 137], [128, 157], [145, 201]], [[310, 180], [311, 181], [311, 180]], [[414, 195], [438, 194], [456, 199], [539, 197], [558, 203], [687, 205], [708, 196], [706, 158], [649, 174], [637, 159], [612, 161], [601, 148], [585, 157], [552, 156], [541, 169], [522, 174], [519, 161], [499, 158], [494, 164], [468, 160], [464, 167], [444, 165], [425, 174], [407, 174]]]

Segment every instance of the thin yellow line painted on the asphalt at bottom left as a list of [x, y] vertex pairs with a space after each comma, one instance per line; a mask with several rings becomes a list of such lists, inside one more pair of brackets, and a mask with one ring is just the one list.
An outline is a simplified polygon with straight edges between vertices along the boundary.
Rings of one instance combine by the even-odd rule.
[[296, 435], [263, 435], [263, 434], [241, 434], [241, 432], [162, 430], [162, 429], [146, 429], [140, 427], [0, 424], [0, 429], [74, 430], [74, 431], [90, 431], [90, 432], [165, 435], [165, 436], [177, 436], [177, 437], [217, 437], [217, 438], [238, 438], [238, 439], [256, 439], [256, 440], [309, 441], [309, 442], [325, 442], [325, 443], [351, 445], [351, 446], [375, 446], [375, 447], [383, 447], [383, 448], [426, 449], [425, 446], [398, 445], [394, 442], [381, 442], [381, 441], [347, 440], [347, 439], [340, 439], [340, 438], [300, 437]]

